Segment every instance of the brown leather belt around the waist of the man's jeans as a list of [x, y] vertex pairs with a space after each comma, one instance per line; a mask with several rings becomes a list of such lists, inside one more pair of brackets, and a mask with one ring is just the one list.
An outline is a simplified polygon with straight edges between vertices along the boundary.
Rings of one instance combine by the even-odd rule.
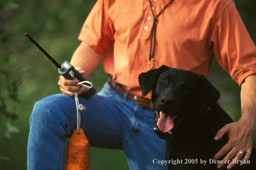
[[109, 86], [110, 86], [113, 90], [115, 90], [117, 93], [121, 94], [122, 96], [127, 95], [127, 98], [128, 98], [128, 99], [134, 100], [135, 103], [137, 103], [138, 105], [140, 105], [140, 106], [145, 106], [145, 107], [150, 107], [150, 105], [151, 105], [151, 100], [148, 100], [148, 99], [143, 98], [143, 97], [135, 96], [135, 95], [133, 95], [133, 94], [131, 94], [131, 93], [129, 93], [129, 92], [128, 92], [128, 94], [127, 94], [127, 91], [126, 91], [121, 85], [119, 85], [119, 84], [113, 82], [113, 80], [112, 80], [111, 77], [109, 77], [109, 79], [108, 79], [107, 82], [108, 82]]

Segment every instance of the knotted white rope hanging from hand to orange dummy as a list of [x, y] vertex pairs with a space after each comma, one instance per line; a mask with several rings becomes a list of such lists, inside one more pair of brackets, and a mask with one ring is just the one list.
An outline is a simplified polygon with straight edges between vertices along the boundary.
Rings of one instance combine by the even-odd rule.
[[[83, 83], [87, 83], [90, 86], [84, 85]], [[79, 82], [77, 85], [82, 85], [82, 86], [87, 87], [87, 88], [92, 88], [93, 87], [93, 84], [91, 82], [88, 82], [88, 81]], [[77, 121], [76, 121], [77, 134], [79, 134], [79, 128], [80, 128], [80, 122], [81, 122], [81, 111], [85, 110], [86, 108], [82, 104], [79, 104], [77, 92], [75, 92], [75, 105], [76, 105], [76, 112], [77, 112]]]

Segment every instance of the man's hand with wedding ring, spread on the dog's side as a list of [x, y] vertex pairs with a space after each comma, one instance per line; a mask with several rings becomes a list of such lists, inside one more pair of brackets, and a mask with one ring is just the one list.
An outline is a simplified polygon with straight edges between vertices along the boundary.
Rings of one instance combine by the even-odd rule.
[[[247, 161], [250, 159], [252, 148], [253, 148], [253, 129], [251, 127], [251, 120], [243, 120], [242, 118], [237, 122], [233, 122], [230, 124], [226, 124], [222, 129], [220, 129], [214, 140], [219, 140], [223, 137], [224, 134], [228, 133], [228, 143], [222, 147], [222, 149], [214, 155], [214, 159], [218, 160], [225, 153], [228, 154], [223, 158], [223, 161], [229, 161], [231, 159], [241, 160], [243, 155], [239, 152], [243, 152], [245, 154], [243, 161]], [[225, 163], [218, 164], [217, 167], [220, 169], [223, 167]], [[231, 169], [236, 164], [233, 164], [233, 161], [227, 166], [227, 169]]]

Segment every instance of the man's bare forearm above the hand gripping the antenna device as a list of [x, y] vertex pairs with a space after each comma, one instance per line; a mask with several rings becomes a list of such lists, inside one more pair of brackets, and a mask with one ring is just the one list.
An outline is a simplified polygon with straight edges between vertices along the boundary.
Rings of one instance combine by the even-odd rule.
[[101, 55], [94, 51], [91, 47], [85, 43], [81, 43], [80, 46], [75, 50], [70, 64], [74, 67], [80, 67], [85, 71], [83, 75], [87, 78], [97, 67], [100, 62]]

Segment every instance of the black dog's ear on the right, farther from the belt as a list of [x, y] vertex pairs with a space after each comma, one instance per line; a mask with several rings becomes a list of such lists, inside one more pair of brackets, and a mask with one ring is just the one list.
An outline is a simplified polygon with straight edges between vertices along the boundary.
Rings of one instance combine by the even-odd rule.
[[219, 91], [203, 75], [200, 77], [199, 110], [205, 112], [206, 109], [219, 100]]

